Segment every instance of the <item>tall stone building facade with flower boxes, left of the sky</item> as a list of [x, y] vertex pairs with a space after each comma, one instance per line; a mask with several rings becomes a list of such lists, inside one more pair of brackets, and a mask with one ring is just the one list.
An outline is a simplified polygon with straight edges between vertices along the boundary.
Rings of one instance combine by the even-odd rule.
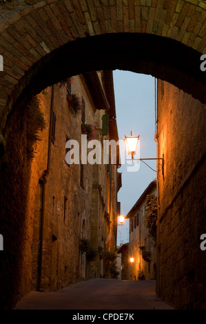
[[[105, 79], [110, 80], [112, 96], [110, 71], [81, 74], [72, 78], [68, 88], [58, 83], [38, 95], [45, 129], [36, 144], [29, 185], [30, 217], [34, 219], [32, 290], [59, 290], [81, 279], [110, 277], [104, 253], [116, 250], [119, 162], [92, 165], [81, 161], [81, 149], [89, 143], [81, 125], [95, 127], [92, 139], [100, 141], [102, 153], [103, 139], [118, 138], [116, 121], [110, 123], [115, 104], [107, 100]], [[72, 114], [68, 94], [78, 94], [78, 114]], [[79, 143], [77, 164], [65, 159], [72, 150], [66, 147], [69, 140]], [[82, 249], [81, 240], [87, 250]]]

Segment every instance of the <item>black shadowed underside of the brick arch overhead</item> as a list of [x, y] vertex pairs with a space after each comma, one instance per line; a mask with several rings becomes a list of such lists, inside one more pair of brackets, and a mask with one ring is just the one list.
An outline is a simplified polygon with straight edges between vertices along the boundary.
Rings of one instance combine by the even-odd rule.
[[206, 76], [200, 53], [152, 34], [105, 34], [72, 41], [35, 63], [13, 92], [14, 103], [49, 85], [90, 70], [130, 70], [151, 74], [206, 103]]

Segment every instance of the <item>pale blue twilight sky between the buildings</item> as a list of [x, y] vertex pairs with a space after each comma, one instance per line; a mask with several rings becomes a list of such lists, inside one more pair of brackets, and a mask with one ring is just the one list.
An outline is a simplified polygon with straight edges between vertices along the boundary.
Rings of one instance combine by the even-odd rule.
[[[140, 135], [140, 158], [156, 157], [155, 131], [155, 99], [154, 77], [151, 75], [137, 74], [134, 72], [113, 71], [114, 94], [116, 101], [116, 121], [119, 139], [125, 135]], [[127, 159], [131, 156], [127, 156]], [[136, 156], [138, 158], [138, 156]], [[156, 170], [156, 161], [145, 161]], [[136, 162], [135, 162], [136, 163]], [[122, 188], [118, 193], [118, 201], [121, 201], [121, 214], [126, 215], [134, 203], [141, 196], [147, 185], [156, 179], [156, 172], [152, 171], [142, 161], [139, 162], [139, 170], [127, 171], [130, 166], [126, 163], [121, 166]], [[130, 167], [131, 170], [131, 167]], [[117, 245], [126, 243], [128, 236], [128, 220], [125, 225], [118, 226]]]

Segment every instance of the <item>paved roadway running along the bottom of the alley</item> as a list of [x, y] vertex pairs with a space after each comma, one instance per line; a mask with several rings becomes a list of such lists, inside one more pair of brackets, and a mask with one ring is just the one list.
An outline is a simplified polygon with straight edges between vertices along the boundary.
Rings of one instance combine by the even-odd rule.
[[172, 310], [155, 296], [156, 281], [91, 279], [57, 292], [31, 292], [16, 310]]

